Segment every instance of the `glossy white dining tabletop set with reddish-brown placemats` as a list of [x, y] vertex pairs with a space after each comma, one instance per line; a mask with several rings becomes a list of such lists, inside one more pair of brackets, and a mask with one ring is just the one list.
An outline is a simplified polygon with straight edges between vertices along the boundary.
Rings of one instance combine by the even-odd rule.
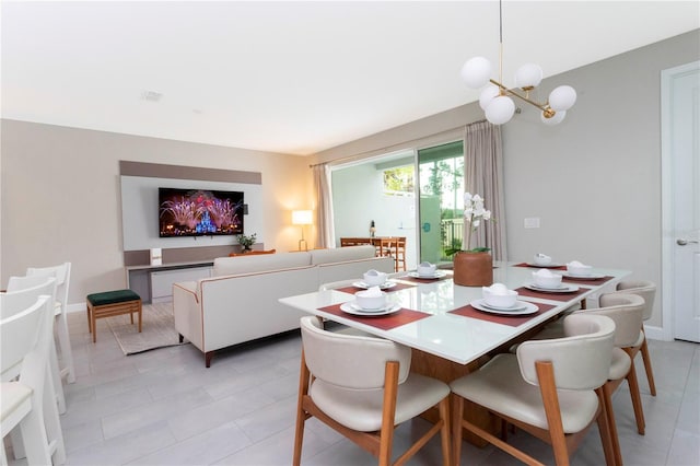
[[[516, 341], [518, 336], [541, 327], [558, 314], [571, 308], [582, 300], [597, 298], [605, 291], [615, 289], [615, 284], [629, 270], [593, 268], [592, 276], [597, 280], [570, 279], [565, 271], [552, 269], [555, 273], [564, 275], [562, 283], [579, 287], [575, 293], [532, 292], [523, 287], [533, 283], [533, 271], [525, 263], [495, 263], [493, 281], [505, 284], [511, 290], [521, 290], [520, 301], [533, 303], [539, 307], [536, 315], [503, 317], [483, 313], [469, 304], [482, 298], [480, 287], [456, 286], [452, 280], [452, 271], [444, 271], [445, 277], [423, 280], [410, 277], [410, 272], [392, 276], [396, 283], [385, 290], [390, 302], [400, 305], [397, 314], [409, 317], [400, 325], [380, 326], [378, 319], [389, 321], [390, 316], [368, 316], [338, 312], [339, 304], [352, 302], [355, 289], [343, 286], [338, 289], [315, 291], [306, 294], [282, 298], [279, 301], [308, 314], [345, 324], [377, 337], [386, 338], [415, 350], [432, 354], [456, 364], [469, 364], [485, 354]], [[361, 278], [358, 279], [362, 281]], [[410, 313], [410, 314], [409, 314]], [[420, 314], [417, 314], [420, 313]]]

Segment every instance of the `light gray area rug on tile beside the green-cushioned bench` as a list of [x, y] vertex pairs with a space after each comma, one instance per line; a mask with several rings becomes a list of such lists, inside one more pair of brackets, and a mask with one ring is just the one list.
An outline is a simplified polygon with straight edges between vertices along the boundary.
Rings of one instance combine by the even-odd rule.
[[183, 345], [178, 341], [173, 317], [173, 303], [143, 305], [143, 323], [139, 334], [138, 316], [131, 324], [129, 314], [107, 317], [107, 325], [126, 356]]

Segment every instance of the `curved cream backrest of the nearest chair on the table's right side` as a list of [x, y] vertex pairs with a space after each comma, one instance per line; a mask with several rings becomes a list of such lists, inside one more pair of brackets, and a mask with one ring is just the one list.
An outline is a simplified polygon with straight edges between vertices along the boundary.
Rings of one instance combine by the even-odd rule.
[[605, 384], [615, 338], [612, 319], [574, 313], [564, 318], [564, 338], [525, 341], [517, 347], [523, 378], [539, 385], [535, 363], [551, 361], [557, 388], [595, 389]]

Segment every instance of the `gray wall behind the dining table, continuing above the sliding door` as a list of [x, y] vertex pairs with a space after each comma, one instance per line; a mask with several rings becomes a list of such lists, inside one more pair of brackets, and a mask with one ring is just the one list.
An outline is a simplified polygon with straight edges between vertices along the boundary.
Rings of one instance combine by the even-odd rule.
[[[544, 80], [539, 98], [560, 84], [579, 97], [559, 126], [542, 125], [529, 105], [502, 126], [510, 260], [541, 252], [629, 269], [661, 287], [661, 72], [698, 59], [700, 30]], [[465, 105], [324, 151], [314, 162], [454, 140], [455, 128], [482, 118], [477, 103]], [[525, 229], [526, 218], [538, 218], [540, 228]], [[660, 305], [661, 290], [651, 326], [662, 326]]]

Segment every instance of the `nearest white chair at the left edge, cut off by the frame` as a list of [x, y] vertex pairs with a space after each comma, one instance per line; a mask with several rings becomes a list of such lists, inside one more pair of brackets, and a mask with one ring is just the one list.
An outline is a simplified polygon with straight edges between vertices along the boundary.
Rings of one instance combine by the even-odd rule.
[[[19, 427], [30, 466], [66, 463], [66, 447], [48, 376], [54, 328], [54, 296], [43, 294], [19, 312], [0, 318], [1, 396], [0, 462], [8, 464], [4, 438]], [[4, 306], [3, 306], [4, 307]], [[15, 310], [12, 310], [15, 311]], [[13, 443], [13, 446], [16, 446]], [[18, 455], [15, 448], [15, 457]]]

